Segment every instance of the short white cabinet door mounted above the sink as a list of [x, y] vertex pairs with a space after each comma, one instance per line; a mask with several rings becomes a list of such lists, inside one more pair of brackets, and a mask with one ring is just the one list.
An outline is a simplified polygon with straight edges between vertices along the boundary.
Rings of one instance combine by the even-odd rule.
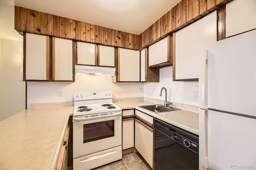
[[170, 36], [149, 46], [148, 65], [153, 66], [170, 61]]

